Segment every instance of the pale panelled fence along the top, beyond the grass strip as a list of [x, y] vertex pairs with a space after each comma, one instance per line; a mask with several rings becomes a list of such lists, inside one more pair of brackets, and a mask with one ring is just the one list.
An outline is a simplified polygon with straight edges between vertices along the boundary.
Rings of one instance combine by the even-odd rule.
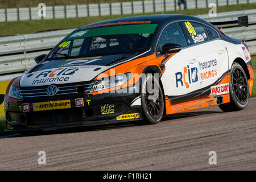
[[[0, 9], [0, 22], [30, 19], [79, 18], [121, 14], [159, 13], [179, 9], [178, 0], [133, 1], [121, 3], [99, 3], [89, 5], [46, 6], [46, 16], [39, 16], [39, 7]], [[187, 0], [187, 9], [207, 8], [210, 3], [217, 6], [256, 3], [256, 0]]]

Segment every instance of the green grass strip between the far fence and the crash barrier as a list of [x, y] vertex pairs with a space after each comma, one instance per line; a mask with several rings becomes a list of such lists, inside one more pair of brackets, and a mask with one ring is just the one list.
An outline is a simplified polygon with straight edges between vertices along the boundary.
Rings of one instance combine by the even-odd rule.
[[[230, 5], [217, 7], [217, 13], [226, 11], [238, 11], [256, 9], [256, 3], [244, 4], [244, 5]], [[164, 14], [187, 14], [187, 15], [199, 15], [208, 14], [209, 8], [205, 9], [193, 9], [193, 10], [177, 10], [166, 11]], [[160, 14], [149, 13], [149, 14]], [[122, 18], [126, 16], [138, 16], [145, 14], [133, 14], [133, 15], [109, 15], [109, 16], [93, 16], [84, 18], [65, 18], [65, 19], [44, 19], [44, 20], [22, 20], [16, 22], [0, 22], [0, 36], [15, 35], [15, 34], [28, 34], [38, 31], [56, 30], [77, 28], [85, 26], [86, 24], [100, 22], [102, 20], [108, 20], [113, 18]]]

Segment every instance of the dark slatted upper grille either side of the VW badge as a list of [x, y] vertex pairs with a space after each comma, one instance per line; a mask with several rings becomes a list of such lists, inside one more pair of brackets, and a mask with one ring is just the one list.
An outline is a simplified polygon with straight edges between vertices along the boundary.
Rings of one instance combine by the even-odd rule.
[[[72, 95], [77, 93], [88, 93], [92, 88], [94, 82], [85, 82], [80, 84], [62, 84], [57, 85], [59, 91], [57, 92], [56, 96], [63, 96], [63, 95]], [[34, 97], [50, 97], [46, 93], [46, 90], [49, 85], [47, 86], [34, 86], [34, 87], [20, 87], [20, 96], [22, 99], [34, 98]]]

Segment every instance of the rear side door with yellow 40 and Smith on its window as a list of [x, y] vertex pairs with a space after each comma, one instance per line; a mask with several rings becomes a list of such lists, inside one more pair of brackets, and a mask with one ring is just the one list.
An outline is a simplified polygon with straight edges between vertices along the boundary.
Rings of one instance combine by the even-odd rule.
[[213, 28], [198, 22], [183, 23], [196, 46], [201, 98], [204, 98], [209, 96], [210, 87], [228, 71], [228, 54], [224, 42]]

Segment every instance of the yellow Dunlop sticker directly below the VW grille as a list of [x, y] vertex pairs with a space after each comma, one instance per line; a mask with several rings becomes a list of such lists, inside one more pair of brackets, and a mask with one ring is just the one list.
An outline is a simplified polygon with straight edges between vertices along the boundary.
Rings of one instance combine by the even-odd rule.
[[68, 108], [71, 108], [70, 100], [33, 103], [33, 111], [68, 109]]

